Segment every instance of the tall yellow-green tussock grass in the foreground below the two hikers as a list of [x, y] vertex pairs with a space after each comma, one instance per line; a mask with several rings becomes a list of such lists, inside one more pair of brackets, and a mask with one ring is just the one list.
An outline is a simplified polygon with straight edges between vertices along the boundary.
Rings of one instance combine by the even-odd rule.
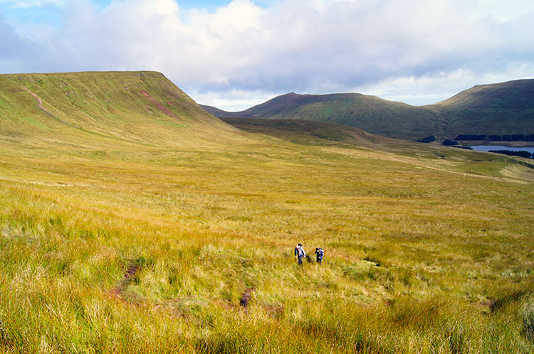
[[[78, 212], [19, 188], [0, 193], [6, 353], [533, 348], [531, 276], [471, 281], [488, 301], [480, 304], [473, 295], [454, 296], [465, 289], [447, 285], [454, 274], [434, 278], [422, 269], [379, 265], [393, 259], [352, 262], [332, 254], [323, 267], [299, 268], [284, 242], [261, 245], [201, 227], [174, 230], [132, 216]], [[120, 289], [130, 264], [139, 269]], [[239, 298], [249, 287], [255, 291], [245, 310]]]

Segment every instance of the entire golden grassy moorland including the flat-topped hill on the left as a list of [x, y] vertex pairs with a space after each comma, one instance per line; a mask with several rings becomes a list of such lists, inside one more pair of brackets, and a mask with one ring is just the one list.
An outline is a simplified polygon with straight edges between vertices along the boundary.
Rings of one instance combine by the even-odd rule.
[[0, 77], [2, 352], [532, 353], [528, 161], [237, 130], [139, 74]]

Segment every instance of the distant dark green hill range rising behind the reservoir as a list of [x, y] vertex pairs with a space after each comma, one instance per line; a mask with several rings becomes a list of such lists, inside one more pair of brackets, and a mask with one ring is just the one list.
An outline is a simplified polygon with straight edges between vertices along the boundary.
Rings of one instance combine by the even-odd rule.
[[415, 107], [355, 93], [289, 93], [242, 112], [201, 106], [216, 117], [305, 119], [347, 124], [373, 134], [419, 140], [434, 135], [533, 134], [534, 80], [476, 86], [449, 100]]

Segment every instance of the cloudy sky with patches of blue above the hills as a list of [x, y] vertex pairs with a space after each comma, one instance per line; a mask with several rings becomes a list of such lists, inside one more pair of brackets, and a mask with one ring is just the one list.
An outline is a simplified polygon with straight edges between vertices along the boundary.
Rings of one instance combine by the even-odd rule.
[[534, 77], [532, 0], [0, 0], [0, 73], [156, 70], [201, 104], [432, 104]]

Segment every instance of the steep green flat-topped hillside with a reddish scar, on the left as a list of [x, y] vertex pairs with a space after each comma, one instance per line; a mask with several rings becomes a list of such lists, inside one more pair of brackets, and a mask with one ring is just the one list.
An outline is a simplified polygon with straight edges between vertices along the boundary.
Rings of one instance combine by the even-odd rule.
[[0, 134], [115, 144], [180, 144], [231, 130], [155, 72], [0, 75]]

